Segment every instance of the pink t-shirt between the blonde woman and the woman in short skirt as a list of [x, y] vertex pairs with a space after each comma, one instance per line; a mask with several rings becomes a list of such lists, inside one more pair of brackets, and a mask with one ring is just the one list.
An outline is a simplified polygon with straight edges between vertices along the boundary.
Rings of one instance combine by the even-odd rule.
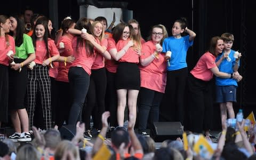
[[[116, 42], [112, 37], [108, 38], [108, 49], [107, 49], [107, 51], [109, 51], [111, 49], [116, 49]], [[105, 67], [109, 72], [116, 73], [117, 66], [118, 66], [117, 61], [114, 60], [113, 58], [111, 58], [111, 60], [106, 60]]]

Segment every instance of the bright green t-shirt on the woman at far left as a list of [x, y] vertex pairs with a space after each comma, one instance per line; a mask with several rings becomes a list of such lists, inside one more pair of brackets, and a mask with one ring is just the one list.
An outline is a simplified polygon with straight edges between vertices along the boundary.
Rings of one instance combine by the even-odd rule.
[[26, 34], [23, 34], [23, 43], [18, 47], [15, 47], [15, 57], [20, 59], [27, 59], [28, 54], [35, 53], [32, 38]]

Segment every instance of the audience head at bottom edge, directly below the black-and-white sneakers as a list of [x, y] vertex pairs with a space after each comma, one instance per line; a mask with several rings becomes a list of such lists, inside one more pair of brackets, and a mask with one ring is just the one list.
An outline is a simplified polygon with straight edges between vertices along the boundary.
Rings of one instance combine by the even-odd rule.
[[17, 157], [15, 160], [24, 160], [24, 159], [39, 160], [41, 159], [41, 154], [30, 143], [26, 143], [25, 145], [22, 145], [21, 147], [19, 147], [17, 151]]

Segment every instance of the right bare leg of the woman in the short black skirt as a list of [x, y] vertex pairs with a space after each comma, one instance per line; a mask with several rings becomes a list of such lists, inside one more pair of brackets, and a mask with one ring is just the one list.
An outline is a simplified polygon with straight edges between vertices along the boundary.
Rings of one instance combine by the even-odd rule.
[[[133, 124], [135, 125], [136, 116], [137, 116], [137, 98], [139, 90], [129, 90], [128, 91], [128, 108], [130, 115], [133, 115]], [[129, 115], [129, 116], [130, 116]], [[134, 128], [134, 126], [133, 126]]]

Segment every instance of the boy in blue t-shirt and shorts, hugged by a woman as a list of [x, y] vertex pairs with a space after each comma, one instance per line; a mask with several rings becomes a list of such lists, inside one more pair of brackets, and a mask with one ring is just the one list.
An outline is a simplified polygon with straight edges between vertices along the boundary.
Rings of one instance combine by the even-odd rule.
[[242, 80], [242, 76], [237, 71], [239, 59], [242, 55], [239, 52], [231, 50], [234, 42], [234, 36], [232, 34], [224, 33], [221, 35], [221, 38], [224, 41], [225, 49], [218, 55], [216, 64], [220, 71], [233, 74], [233, 78], [215, 77], [216, 102], [220, 103], [221, 124], [223, 126], [226, 123], [227, 112], [229, 118], [235, 118], [233, 102], [236, 102], [237, 82]]

